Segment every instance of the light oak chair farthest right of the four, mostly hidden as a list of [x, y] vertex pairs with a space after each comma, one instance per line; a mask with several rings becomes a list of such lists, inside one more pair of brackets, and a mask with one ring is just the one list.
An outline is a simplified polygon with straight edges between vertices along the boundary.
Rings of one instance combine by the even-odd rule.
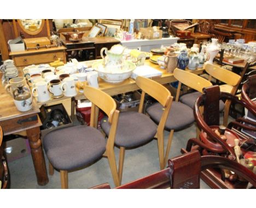
[[[235, 74], [234, 72], [221, 68], [219, 66], [213, 64], [206, 64], [205, 71], [209, 74], [209, 81], [212, 77], [218, 79], [219, 81], [225, 83], [219, 85], [220, 91], [224, 93], [230, 93], [231, 95], [235, 95], [236, 91], [241, 83], [241, 76]], [[225, 126], [228, 125], [228, 118], [229, 118], [229, 109], [230, 109], [231, 102], [227, 100], [224, 106], [224, 118], [223, 124]]]

